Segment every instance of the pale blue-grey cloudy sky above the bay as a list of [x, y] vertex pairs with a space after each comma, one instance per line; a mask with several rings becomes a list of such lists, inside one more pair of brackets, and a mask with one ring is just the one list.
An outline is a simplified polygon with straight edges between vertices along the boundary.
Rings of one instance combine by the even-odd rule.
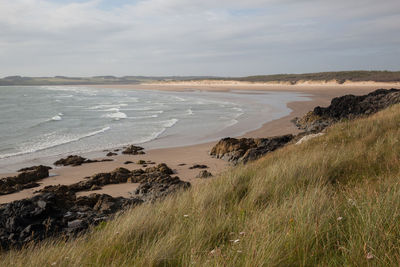
[[0, 0], [0, 77], [400, 70], [399, 0]]

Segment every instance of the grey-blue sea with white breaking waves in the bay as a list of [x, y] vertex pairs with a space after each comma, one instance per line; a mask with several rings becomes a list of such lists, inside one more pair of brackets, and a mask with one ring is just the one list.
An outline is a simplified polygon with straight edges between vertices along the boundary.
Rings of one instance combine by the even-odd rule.
[[306, 99], [283, 92], [0, 87], [0, 171], [17, 160], [240, 135], [289, 114], [287, 102]]

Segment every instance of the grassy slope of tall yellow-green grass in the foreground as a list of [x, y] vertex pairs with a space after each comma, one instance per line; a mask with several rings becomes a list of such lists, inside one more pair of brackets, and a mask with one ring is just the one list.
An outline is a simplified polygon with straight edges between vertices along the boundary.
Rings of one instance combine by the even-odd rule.
[[5, 253], [0, 265], [397, 266], [399, 126], [400, 105], [337, 124], [86, 238]]

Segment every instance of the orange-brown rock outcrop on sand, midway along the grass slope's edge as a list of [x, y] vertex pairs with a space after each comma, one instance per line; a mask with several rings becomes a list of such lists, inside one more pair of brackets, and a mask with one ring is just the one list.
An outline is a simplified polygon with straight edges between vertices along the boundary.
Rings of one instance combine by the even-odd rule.
[[210, 155], [224, 159], [234, 164], [247, 163], [274, 151], [294, 138], [293, 135], [283, 135], [270, 138], [224, 138], [211, 150]]

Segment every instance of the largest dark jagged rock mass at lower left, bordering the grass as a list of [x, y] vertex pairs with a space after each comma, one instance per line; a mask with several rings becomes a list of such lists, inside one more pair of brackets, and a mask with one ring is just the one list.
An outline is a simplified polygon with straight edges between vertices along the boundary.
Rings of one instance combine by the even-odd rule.
[[[131, 205], [155, 201], [190, 183], [172, 177], [166, 164], [130, 171], [118, 168], [71, 185], [47, 186], [33, 198], [0, 205], [0, 248], [20, 247], [52, 236], [74, 236], [109, 220]], [[79, 191], [98, 190], [116, 183], [140, 183], [132, 198], [104, 194], [76, 197]]]

